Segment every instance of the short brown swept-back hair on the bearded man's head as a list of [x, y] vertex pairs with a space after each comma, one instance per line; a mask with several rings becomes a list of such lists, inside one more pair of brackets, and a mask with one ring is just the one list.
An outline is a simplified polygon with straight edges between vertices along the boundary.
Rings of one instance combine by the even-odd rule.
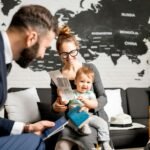
[[57, 34], [58, 24], [47, 8], [40, 5], [26, 5], [14, 14], [9, 27], [18, 29], [33, 27], [38, 32], [52, 30]]

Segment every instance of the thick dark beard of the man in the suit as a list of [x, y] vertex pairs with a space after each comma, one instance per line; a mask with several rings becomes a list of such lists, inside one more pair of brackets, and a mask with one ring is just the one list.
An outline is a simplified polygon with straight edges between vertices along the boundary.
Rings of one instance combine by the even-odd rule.
[[29, 64], [36, 58], [39, 49], [39, 43], [35, 43], [30, 48], [25, 48], [16, 63], [22, 68], [27, 68]]

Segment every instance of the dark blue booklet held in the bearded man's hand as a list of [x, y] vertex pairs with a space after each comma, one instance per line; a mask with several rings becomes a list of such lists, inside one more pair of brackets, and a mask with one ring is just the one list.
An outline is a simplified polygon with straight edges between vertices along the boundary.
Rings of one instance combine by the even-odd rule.
[[58, 133], [59, 131], [64, 129], [64, 126], [68, 124], [68, 121], [66, 120], [65, 117], [61, 117], [58, 120], [55, 121], [55, 126], [51, 128], [47, 128], [43, 132], [43, 140], [48, 139], [52, 135]]

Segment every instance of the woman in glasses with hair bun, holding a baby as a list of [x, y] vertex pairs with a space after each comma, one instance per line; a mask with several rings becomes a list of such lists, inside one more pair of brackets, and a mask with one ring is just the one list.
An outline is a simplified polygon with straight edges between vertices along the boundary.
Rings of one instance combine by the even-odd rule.
[[[107, 115], [103, 109], [107, 103], [107, 98], [98, 70], [93, 64], [81, 63], [78, 60], [79, 43], [75, 36], [71, 33], [69, 27], [64, 26], [60, 30], [56, 48], [63, 63], [63, 67], [60, 71], [64, 77], [69, 79], [72, 89], [76, 88], [74, 79], [79, 68], [82, 66], [88, 66], [94, 71], [95, 80], [93, 83], [93, 91], [95, 92], [98, 100], [98, 107], [95, 110], [91, 110], [91, 112], [107, 120]], [[68, 108], [57, 95], [57, 87], [53, 81], [51, 82], [51, 91], [53, 113], [59, 117], [61, 115], [65, 115]], [[62, 131], [61, 139], [56, 144], [55, 150], [71, 150], [74, 145], [78, 145], [78, 149], [91, 150], [95, 147], [94, 144], [97, 143], [97, 131], [94, 128], [91, 129], [92, 134], [83, 136], [66, 126]]]

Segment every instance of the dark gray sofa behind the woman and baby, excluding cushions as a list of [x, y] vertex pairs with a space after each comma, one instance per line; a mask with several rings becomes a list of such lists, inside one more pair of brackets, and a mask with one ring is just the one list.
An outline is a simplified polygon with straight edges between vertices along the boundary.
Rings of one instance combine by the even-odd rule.
[[[11, 88], [9, 92], [18, 90], [22, 89]], [[41, 113], [41, 118], [55, 121], [59, 116], [50, 113], [50, 88], [37, 88], [37, 92], [40, 97], [38, 107]], [[122, 107], [124, 112], [132, 116], [133, 122], [141, 123], [145, 125], [146, 128], [110, 130], [111, 139], [115, 149], [143, 147], [146, 145], [148, 141], [149, 94], [150, 88], [121, 89]], [[54, 149], [58, 136], [59, 133], [46, 141], [47, 147], [50, 147], [51, 150]]]

